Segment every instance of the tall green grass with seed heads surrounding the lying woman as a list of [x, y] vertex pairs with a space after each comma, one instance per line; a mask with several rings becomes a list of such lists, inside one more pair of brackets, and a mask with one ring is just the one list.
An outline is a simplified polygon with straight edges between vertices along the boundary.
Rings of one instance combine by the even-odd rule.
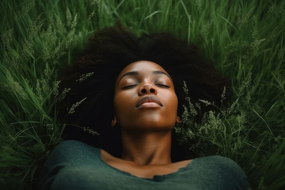
[[[12, 0], [0, 5], [1, 187], [34, 187], [66, 126], [50, 117], [56, 102], [68, 95], [57, 90], [58, 71], [71, 64], [72, 53], [84, 48], [94, 31], [120, 20], [137, 35], [167, 31], [198, 45], [231, 79], [232, 106], [204, 116], [191, 100], [184, 107], [183, 122], [175, 126], [181, 144], [200, 156], [235, 160], [253, 189], [284, 188], [285, 1]], [[215, 106], [207, 101], [201, 103]]]

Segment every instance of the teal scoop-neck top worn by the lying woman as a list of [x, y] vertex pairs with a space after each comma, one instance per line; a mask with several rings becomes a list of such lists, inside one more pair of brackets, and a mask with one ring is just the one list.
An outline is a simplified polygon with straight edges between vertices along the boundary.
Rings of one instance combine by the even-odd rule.
[[100, 149], [77, 140], [59, 143], [42, 165], [38, 189], [251, 189], [242, 168], [223, 156], [195, 158], [150, 179], [110, 166]]

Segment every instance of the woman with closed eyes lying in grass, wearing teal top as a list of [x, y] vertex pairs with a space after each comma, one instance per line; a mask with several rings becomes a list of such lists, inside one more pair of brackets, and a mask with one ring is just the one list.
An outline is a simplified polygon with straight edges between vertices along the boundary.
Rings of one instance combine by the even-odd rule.
[[[62, 74], [66, 87], [83, 73], [95, 72], [86, 81], [73, 83], [74, 92], [60, 107], [87, 97], [76, 108], [77, 115], [68, 115], [65, 123], [92, 126], [100, 136], [86, 139], [87, 134], [66, 128], [65, 141], [42, 166], [39, 189], [250, 188], [233, 160], [222, 156], [185, 160], [172, 137], [175, 124], [181, 123], [180, 107], [187, 105], [181, 93], [183, 80], [190, 84], [194, 101], [216, 102], [223, 86], [230, 89], [229, 82], [197, 55], [195, 46], [188, 48], [170, 34], [147, 36], [147, 42], [144, 37], [137, 39], [120, 24], [99, 31]], [[227, 95], [231, 93], [230, 89]], [[60, 111], [58, 118], [64, 114]]]

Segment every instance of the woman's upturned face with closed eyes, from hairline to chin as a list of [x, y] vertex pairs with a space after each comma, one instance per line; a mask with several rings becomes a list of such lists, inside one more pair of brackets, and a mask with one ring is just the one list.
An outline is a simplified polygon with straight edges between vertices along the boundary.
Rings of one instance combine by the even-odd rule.
[[[145, 101], [141, 104], [144, 97], [150, 97], [144, 99], [146, 102], [158, 104], [143, 103]], [[178, 99], [170, 75], [154, 62], [134, 62], [125, 67], [116, 79], [115, 115], [111, 125], [118, 122], [122, 130], [133, 132], [169, 131], [180, 121], [177, 106]]]

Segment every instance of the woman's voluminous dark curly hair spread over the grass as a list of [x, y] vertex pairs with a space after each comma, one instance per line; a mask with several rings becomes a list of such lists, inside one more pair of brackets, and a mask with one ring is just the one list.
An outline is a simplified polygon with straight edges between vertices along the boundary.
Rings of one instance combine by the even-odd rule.
[[[184, 112], [183, 104], [188, 107], [185, 100], [183, 81], [188, 87], [188, 97], [192, 103], [201, 103], [198, 99], [221, 104], [221, 94], [226, 86], [226, 97], [223, 105], [229, 101], [232, 89], [229, 80], [218, 73], [214, 67], [207, 64], [199, 54], [197, 46], [180, 40], [172, 34], [155, 33], [144, 34], [140, 38], [127, 31], [120, 23], [110, 28], [99, 30], [89, 39], [89, 46], [75, 54], [73, 64], [67, 66], [58, 80], [59, 92], [64, 88], [71, 88], [66, 97], [58, 102], [58, 116], [60, 122], [89, 127], [100, 135], [91, 135], [83, 129], [66, 125], [63, 132], [64, 140], [74, 139], [85, 142], [91, 146], [102, 148], [115, 157], [122, 154], [121, 131], [115, 126], [111, 127], [114, 116], [113, 97], [114, 85], [117, 75], [127, 65], [140, 61], [152, 61], [166, 70], [173, 82], [178, 97], [178, 116]], [[85, 73], [94, 72], [84, 81], [76, 81]], [[74, 82], [76, 81], [76, 82]], [[72, 83], [73, 82], [73, 83]], [[71, 84], [72, 83], [72, 84]], [[71, 85], [70, 85], [71, 84]], [[67, 109], [72, 104], [85, 99], [74, 113], [67, 115]], [[201, 103], [201, 114], [214, 110], [212, 106], [205, 107]], [[202, 117], [201, 117], [202, 118]], [[189, 152], [177, 142], [178, 136], [172, 130], [172, 162], [187, 160]]]

